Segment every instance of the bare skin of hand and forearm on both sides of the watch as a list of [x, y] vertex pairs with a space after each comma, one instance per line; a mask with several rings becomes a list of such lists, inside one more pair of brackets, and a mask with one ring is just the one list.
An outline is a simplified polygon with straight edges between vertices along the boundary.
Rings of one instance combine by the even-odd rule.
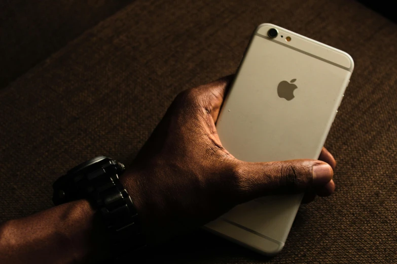
[[[319, 160], [252, 163], [222, 147], [215, 123], [231, 78], [179, 94], [121, 176], [149, 245], [261, 196], [305, 192], [308, 202], [334, 192], [335, 160], [324, 148]], [[111, 255], [103, 219], [85, 199], [7, 221], [0, 234], [5, 264], [98, 263]]]

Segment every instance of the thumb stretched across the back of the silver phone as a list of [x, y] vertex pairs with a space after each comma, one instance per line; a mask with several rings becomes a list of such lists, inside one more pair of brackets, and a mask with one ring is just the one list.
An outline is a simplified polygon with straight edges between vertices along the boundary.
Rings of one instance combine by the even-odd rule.
[[234, 169], [238, 194], [249, 201], [269, 194], [300, 193], [320, 188], [332, 180], [332, 167], [319, 160], [276, 162], [238, 161]]

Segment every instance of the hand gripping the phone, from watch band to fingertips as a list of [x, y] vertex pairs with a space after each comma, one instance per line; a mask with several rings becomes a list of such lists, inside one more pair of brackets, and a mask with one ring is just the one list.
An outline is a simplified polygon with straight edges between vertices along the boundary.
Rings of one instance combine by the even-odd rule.
[[305, 200], [334, 192], [335, 160], [252, 163], [234, 158], [216, 133], [231, 77], [179, 94], [121, 181], [140, 214], [149, 244], [199, 227], [239, 203], [278, 193]]

